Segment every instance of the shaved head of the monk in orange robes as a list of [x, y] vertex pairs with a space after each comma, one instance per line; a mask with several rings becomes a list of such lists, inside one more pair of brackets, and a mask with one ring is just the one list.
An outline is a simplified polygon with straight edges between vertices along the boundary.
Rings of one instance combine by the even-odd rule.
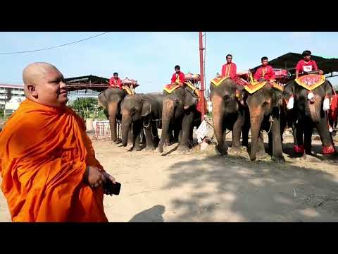
[[68, 102], [65, 78], [50, 63], [30, 63], [23, 70], [27, 99], [50, 107], [63, 107]]

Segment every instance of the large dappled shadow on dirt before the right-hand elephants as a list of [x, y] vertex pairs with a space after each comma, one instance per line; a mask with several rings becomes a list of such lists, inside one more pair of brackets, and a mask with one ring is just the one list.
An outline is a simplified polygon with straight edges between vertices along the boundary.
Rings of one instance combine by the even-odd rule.
[[175, 222], [338, 222], [338, 169], [204, 157], [177, 162], [164, 189], [185, 188], [171, 200]]

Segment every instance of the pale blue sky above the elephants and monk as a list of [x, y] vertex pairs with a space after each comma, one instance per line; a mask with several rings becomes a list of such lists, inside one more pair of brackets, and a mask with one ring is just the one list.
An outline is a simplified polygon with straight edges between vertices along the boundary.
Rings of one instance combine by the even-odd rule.
[[[100, 32], [0, 32], [0, 52], [18, 52], [82, 40]], [[78, 75], [139, 81], [138, 92], [161, 91], [170, 82], [174, 66], [199, 73], [198, 32], [110, 32], [77, 44], [27, 54], [0, 54], [0, 83], [22, 84], [28, 63], [53, 63], [70, 78]], [[237, 68], [260, 64], [261, 56], [274, 59], [287, 52], [310, 49], [323, 57], [338, 57], [338, 32], [206, 32], [206, 81], [220, 72], [226, 54]], [[338, 85], [338, 79], [331, 79]]]

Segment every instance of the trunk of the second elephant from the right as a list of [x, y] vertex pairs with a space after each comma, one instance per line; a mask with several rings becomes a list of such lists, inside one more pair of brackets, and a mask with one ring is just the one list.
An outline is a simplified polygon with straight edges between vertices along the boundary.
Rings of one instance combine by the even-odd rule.
[[263, 111], [260, 108], [250, 109], [250, 123], [251, 123], [251, 153], [250, 159], [256, 160], [256, 155], [259, 146], [259, 136], [261, 131], [261, 123], [264, 118]]

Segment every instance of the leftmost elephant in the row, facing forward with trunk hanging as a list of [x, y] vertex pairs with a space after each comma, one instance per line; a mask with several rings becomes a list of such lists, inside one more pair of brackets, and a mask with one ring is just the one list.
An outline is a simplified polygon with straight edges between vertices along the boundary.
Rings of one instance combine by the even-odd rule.
[[111, 127], [111, 141], [116, 144], [120, 143], [116, 130], [116, 121], [121, 121], [122, 119], [120, 104], [123, 102], [125, 96], [127, 96], [127, 92], [125, 90], [112, 87], [100, 92], [98, 95], [99, 104], [104, 107], [105, 114], [109, 119], [109, 124]]

